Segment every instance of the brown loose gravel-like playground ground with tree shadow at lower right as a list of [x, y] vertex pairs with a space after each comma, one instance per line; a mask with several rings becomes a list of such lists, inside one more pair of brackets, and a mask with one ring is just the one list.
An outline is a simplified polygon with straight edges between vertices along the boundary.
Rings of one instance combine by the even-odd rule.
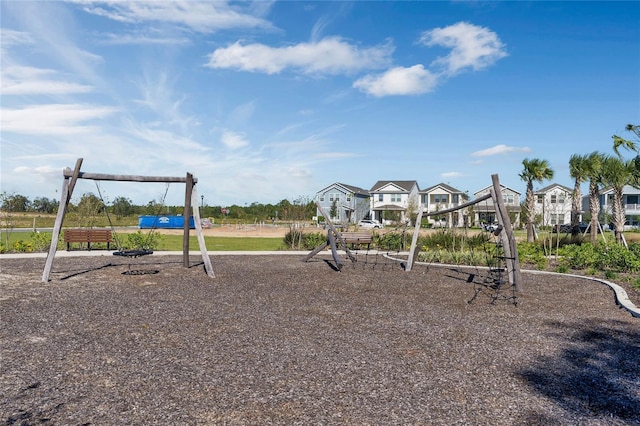
[[491, 304], [483, 270], [300, 259], [3, 260], [1, 421], [640, 425], [607, 286], [525, 273]]

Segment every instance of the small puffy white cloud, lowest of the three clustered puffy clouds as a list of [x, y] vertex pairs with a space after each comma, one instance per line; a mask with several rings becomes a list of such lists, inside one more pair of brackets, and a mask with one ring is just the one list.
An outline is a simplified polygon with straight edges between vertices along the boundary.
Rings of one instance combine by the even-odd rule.
[[367, 75], [353, 87], [373, 96], [419, 95], [433, 90], [437, 78], [420, 64], [409, 68], [396, 67], [382, 74]]

